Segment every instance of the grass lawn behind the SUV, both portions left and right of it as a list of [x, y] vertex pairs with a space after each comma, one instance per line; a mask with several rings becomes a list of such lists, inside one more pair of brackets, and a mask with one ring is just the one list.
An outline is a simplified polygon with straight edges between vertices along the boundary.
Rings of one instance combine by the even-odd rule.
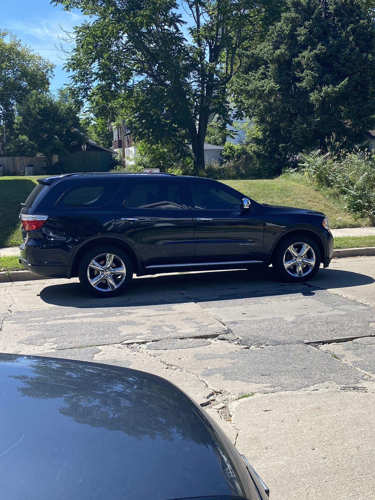
[[[16, 246], [22, 242], [18, 214], [21, 203], [34, 188], [38, 177], [38, 175], [0, 177], [0, 247]], [[301, 175], [223, 182], [261, 203], [320, 210], [329, 217], [331, 228], [370, 225], [367, 219], [356, 219], [347, 213], [339, 200], [316, 191], [313, 184]]]

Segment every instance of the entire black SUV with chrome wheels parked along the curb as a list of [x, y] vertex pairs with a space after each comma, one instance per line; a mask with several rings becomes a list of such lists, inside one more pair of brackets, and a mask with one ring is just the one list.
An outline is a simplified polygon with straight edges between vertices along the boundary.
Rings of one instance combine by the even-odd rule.
[[333, 250], [326, 216], [250, 200], [216, 180], [172, 174], [74, 173], [38, 180], [23, 204], [22, 264], [78, 276], [99, 297], [137, 276], [249, 268], [311, 278]]

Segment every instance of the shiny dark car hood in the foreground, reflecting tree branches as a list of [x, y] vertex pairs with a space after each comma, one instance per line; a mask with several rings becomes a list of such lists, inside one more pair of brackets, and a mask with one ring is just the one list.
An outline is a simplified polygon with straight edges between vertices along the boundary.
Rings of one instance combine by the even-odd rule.
[[0, 380], [7, 500], [257, 498], [233, 474], [244, 467], [236, 450], [160, 377], [0, 354]]

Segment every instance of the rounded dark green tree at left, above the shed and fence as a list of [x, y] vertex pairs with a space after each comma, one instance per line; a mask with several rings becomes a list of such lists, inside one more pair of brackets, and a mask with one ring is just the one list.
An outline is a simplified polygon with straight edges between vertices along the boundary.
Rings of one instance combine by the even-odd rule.
[[58, 97], [32, 90], [16, 106], [14, 131], [8, 146], [14, 155], [64, 154], [74, 142], [84, 142], [76, 103], [66, 90]]

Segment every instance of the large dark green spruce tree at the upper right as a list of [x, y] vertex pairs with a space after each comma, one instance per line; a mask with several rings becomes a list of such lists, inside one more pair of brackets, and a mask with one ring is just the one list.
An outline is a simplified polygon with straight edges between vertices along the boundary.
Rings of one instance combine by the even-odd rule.
[[278, 171], [304, 150], [363, 142], [375, 125], [375, 24], [362, 0], [288, 0], [235, 83], [253, 141]]

